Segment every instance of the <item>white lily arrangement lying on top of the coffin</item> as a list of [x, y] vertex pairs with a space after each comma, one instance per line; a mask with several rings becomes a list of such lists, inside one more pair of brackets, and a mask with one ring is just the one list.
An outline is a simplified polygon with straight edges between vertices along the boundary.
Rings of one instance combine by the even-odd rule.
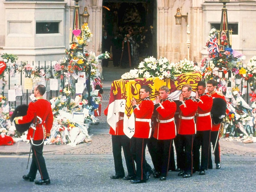
[[176, 79], [175, 75], [197, 71], [199, 68], [194, 66], [193, 61], [187, 59], [180, 60], [180, 62], [170, 62], [165, 57], [156, 59], [148, 57], [140, 62], [138, 69], [132, 72], [125, 73], [121, 76], [122, 79], [135, 79], [135, 78], [150, 78], [159, 77], [160, 80], [164, 78]]

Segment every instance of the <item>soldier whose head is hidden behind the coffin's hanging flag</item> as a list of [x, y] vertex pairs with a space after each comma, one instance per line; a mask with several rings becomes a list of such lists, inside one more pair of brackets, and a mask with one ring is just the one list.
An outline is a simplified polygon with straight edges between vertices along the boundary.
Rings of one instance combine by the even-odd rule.
[[[108, 107], [104, 110], [104, 114], [108, 115]], [[109, 134], [112, 135], [112, 150], [114, 156], [115, 175], [110, 179], [123, 178], [124, 180], [132, 180], [135, 178], [135, 164], [130, 151], [131, 140], [124, 134], [124, 113], [119, 112], [119, 121], [116, 124], [116, 131], [110, 127]], [[128, 176], [124, 177], [124, 166], [122, 161], [122, 148], [124, 151], [124, 159], [128, 171]]]

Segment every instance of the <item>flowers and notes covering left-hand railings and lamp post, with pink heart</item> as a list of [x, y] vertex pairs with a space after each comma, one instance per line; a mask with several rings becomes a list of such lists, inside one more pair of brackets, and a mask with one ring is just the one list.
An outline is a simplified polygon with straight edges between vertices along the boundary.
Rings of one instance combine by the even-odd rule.
[[[99, 123], [96, 116], [100, 116], [103, 89], [101, 74], [97, 65], [99, 60], [109, 58], [109, 53], [96, 56], [94, 52], [86, 50], [86, 43], [90, 41], [92, 33], [87, 24], [82, 26], [81, 32], [80, 34], [77, 33], [78, 35], [74, 33], [75, 37], [70, 42], [69, 49], [66, 50], [66, 56], [53, 63], [53, 70], [44, 71], [28, 62], [21, 62], [17, 65], [15, 55], [2, 55], [4, 61], [1, 61], [0, 65], [3, 66], [3, 76], [5, 71], [9, 72], [10, 75], [12, 71], [13, 73], [18, 71], [24, 73], [25, 77], [31, 78], [33, 84], [36, 84], [41, 78], [46, 79], [46, 73], [50, 74], [50, 78], [55, 76], [55, 78], [60, 79], [60, 95], [50, 100], [54, 122], [50, 139], [45, 141], [45, 144], [68, 143], [76, 145], [80, 142], [88, 142], [90, 136], [87, 129], [90, 124]], [[84, 87], [82, 92], [76, 91], [77, 83], [82, 84], [82, 88]], [[0, 124], [8, 127], [4, 133], [12, 135], [16, 141], [26, 141], [27, 132], [19, 135], [15, 131], [15, 126], [9, 119], [11, 116], [10, 108], [5, 100], [4, 96], [0, 96]], [[75, 113], [79, 115], [79, 119], [74, 118]]]

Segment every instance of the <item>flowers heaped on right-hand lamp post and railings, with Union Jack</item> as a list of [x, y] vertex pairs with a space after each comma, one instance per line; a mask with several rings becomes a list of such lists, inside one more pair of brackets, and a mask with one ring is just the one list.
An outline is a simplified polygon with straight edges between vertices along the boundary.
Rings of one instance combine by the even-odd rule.
[[[203, 79], [208, 81], [214, 79], [218, 82], [217, 90], [226, 96], [228, 115], [224, 119], [224, 134], [230, 136], [255, 135], [255, 123], [253, 111], [255, 106], [249, 106], [242, 97], [245, 94], [246, 85], [239, 86], [243, 81], [250, 82], [251, 90], [254, 91], [253, 75], [256, 74], [256, 57], [250, 59], [247, 64], [243, 64], [245, 56], [236, 52], [228, 46], [226, 34], [222, 32], [218, 37], [216, 29], [211, 29], [209, 39], [206, 43], [209, 54], [202, 60], [201, 71]], [[218, 38], [218, 40], [217, 40]], [[226, 74], [231, 73], [231, 78], [227, 79]], [[233, 79], [233, 87], [228, 87], [229, 80]], [[240, 91], [239, 88], [242, 88]]]

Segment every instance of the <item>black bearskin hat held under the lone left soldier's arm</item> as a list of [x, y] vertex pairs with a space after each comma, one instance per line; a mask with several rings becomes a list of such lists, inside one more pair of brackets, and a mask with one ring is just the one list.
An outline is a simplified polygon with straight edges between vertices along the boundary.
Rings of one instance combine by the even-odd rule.
[[[19, 105], [15, 108], [15, 110], [13, 111], [12, 117], [11, 117], [11, 121], [13, 121], [13, 119], [15, 117], [20, 117], [20, 116], [25, 116], [27, 115], [27, 111], [28, 111], [28, 105], [26, 104], [22, 104]], [[26, 123], [26, 124], [15, 124], [16, 130], [20, 133], [23, 133], [25, 131], [28, 130], [28, 128], [30, 127], [31, 122], [30, 123]]]

